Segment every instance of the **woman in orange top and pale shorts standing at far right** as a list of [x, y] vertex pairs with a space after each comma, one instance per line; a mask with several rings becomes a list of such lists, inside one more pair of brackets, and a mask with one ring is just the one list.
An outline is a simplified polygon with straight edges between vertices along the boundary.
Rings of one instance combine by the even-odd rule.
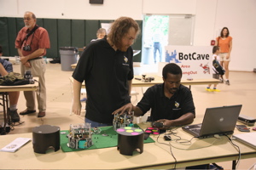
[[217, 37], [217, 46], [220, 48], [220, 65], [224, 67], [225, 70], [225, 83], [227, 85], [230, 85], [230, 53], [232, 50], [232, 37], [230, 37], [230, 31], [227, 27], [224, 27], [220, 32], [220, 37]]

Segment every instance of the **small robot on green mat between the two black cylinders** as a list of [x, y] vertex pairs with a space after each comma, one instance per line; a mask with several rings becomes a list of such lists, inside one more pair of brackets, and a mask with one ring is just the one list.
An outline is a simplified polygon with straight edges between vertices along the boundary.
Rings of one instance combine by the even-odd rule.
[[72, 149], [89, 148], [93, 143], [90, 133], [90, 123], [71, 124], [67, 146]]

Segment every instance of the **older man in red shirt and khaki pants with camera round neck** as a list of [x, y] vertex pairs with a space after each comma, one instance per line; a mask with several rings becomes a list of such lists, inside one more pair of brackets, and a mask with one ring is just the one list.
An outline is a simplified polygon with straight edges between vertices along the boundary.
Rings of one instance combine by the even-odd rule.
[[[33, 77], [38, 77], [40, 88], [36, 91], [38, 100], [38, 117], [44, 117], [46, 111], [46, 87], [45, 87], [45, 62], [43, 56], [46, 48], [49, 48], [49, 35], [43, 27], [36, 25], [35, 14], [27, 11], [24, 14], [25, 26], [19, 31], [15, 40], [15, 48], [20, 55], [20, 71], [24, 75], [30, 70]], [[24, 92], [26, 98], [26, 110], [20, 115], [27, 115], [36, 112], [35, 92]]]

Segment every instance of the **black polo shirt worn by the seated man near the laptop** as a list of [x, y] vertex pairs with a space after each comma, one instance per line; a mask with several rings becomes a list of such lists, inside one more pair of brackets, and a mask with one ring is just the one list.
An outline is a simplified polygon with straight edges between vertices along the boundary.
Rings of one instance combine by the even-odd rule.
[[148, 88], [143, 99], [137, 104], [143, 115], [151, 109], [151, 121], [174, 120], [186, 113], [195, 114], [195, 105], [189, 88], [183, 86], [168, 99], [164, 94], [164, 83]]

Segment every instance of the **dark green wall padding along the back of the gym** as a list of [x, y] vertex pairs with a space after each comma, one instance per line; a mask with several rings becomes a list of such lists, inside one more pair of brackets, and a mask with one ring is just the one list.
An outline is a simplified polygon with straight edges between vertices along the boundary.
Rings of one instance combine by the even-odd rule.
[[[63, 19], [37, 19], [38, 26], [43, 26], [49, 33], [50, 48], [47, 49], [48, 58], [60, 57], [60, 47], [83, 48], [91, 39], [96, 38], [96, 31], [101, 23], [110, 23], [113, 20], [63, 20]], [[143, 21], [137, 20], [143, 28]], [[15, 48], [15, 39], [24, 26], [23, 18], [0, 17], [0, 44], [3, 45], [5, 56], [18, 55]], [[142, 33], [132, 45], [133, 49], [142, 49]], [[141, 54], [137, 54], [134, 61], [141, 61]]]

